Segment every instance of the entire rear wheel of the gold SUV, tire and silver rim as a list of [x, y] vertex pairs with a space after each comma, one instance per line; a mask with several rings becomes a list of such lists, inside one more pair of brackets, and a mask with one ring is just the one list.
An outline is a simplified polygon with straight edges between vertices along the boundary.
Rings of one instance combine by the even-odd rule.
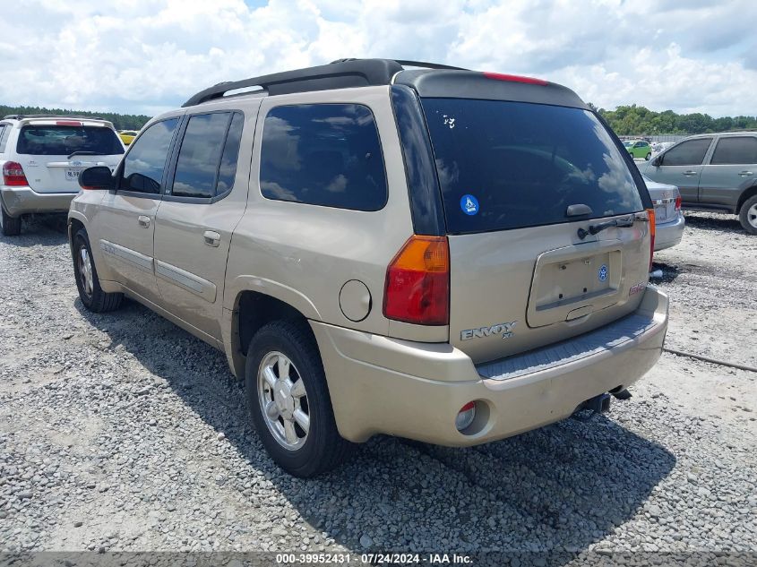
[[255, 333], [245, 391], [263, 446], [290, 475], [314, 477], [347, 457], [351, 443], [337, 431], [321, 357], [305, 322], [271, 322]]

